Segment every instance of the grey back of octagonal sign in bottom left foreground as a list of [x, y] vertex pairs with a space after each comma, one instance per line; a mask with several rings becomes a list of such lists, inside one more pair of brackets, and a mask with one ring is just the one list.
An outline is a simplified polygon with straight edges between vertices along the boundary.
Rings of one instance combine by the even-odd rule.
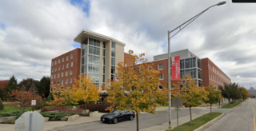
[[15, 131], [42, 131], [45, 118], [38, 112], [26, 112], [15, 121]]

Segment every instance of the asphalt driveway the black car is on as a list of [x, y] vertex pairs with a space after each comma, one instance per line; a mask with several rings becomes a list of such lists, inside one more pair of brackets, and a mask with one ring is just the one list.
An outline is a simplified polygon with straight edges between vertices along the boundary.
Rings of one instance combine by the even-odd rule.
[[[192, 109], [192, 113], [198, 113], [200, 111], [203, 111], [203, 109]], [[177, 112], [175, 110], [172, 110], [172, 119], [176, 119]], [[184, 117], [189, 115], [189, 109], [180, 109], [178, 112], [178, 117]], [[139, 128], [140, 129], [146, 129], [150, 128], [155, 125], [162, 125], [163, 123], [168, 122], [168, 110], [164, 111], [157, 111], [155, 114], [151, 113], [143, 113], [139, 115]], [[166, 127], [167, 129], [168, 127]], [[111, 130], [111, 131], [134, 131], [136, 130], [136, 119], [133, 121], [121, 121], [118, 122], [118, 124], [108, 124], [103, 123], [101, 121], [99, 122], [93, 122], [89, 124], [83, 124], [83, 125], [75, 125], [70, 126], [62, 129], [55, 129], [54, 131], [102, 131], [102, 130]]]

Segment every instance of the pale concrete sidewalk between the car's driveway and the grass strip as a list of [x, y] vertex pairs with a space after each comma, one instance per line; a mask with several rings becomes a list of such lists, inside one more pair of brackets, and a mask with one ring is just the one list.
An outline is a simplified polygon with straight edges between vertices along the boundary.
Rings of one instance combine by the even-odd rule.
[[[199, 113], [192, 113], [192, 119], [201, 117], [202, 115], [204, 115], [206, 113], [210, 113], [210, 111], [202, 111]], [[180, 117], [180, 118], [178, 118], [178, 125], [182, 125], [188, 121], [190, 121], [190, 115], [187, 115], [185, 117]], [[172, 128], [177, 127], [177, 119], [171, 121], [171, 125], [172, 125]], [[169, 127], [169, 122], [166, 122], [162, 125], [157, 125], [157, 126], [153, 126], [150, 128], [141, 129], [140, 131], [165, 131], [166, 129], [168, 129], [168, 127]]]

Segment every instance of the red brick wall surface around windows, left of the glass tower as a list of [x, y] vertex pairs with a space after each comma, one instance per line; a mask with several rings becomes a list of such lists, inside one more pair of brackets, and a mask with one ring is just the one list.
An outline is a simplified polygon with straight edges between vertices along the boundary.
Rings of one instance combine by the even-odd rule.
[[[70, 58], [71, 54], [73, 54], [73, 58]], [[66, 56], [69, 56], [69, 59], [67, 61], [66, 61]], [[62, 58], [64, 58], [64, 62], [62, 62]], [[57, 58], [53, 58], [51, 62], [54, 62], [54, 65], [50, 63], [51, 65], [50, 73], [51, 75], [53, 75], [53, 78], [50, 79], [50, 88], [53, 87], [54, 81], [56, 81], [56, 85], [54, 86], [58, 86], [58, 81], [60, 83], [59, 85], [61, 85], [62, 87], [72, 86], [74, 84], [74, 78], [78, 78], [78, 75], [80, 74], [80, 58], [81, 58], [81, 50], [79, 48], [75, 50], [71, 50], [66, 54], [62, 54]], [[60, 63], [58, 63], [58, 59], [61, 60]], [[55, 61], [57, 61], [57, 65], [55, 65]], [[71, 62], [73, 62], [72, 67], [70, 66]], [[66, 68], [66, 63], [69, 63], [68, 68]], [[58, 70], [59, 65], [61, 66], [60, 70]], [[62, 69], [62, 65], [64, 65], [64, 69]], [[57, 67], [57, 71], [55, 71], [55, 67]], [[54, 72], [52, 72], [52, 68], [54, 68]], [[72, 69], [72, 75], [70, 75], [71, 69]], [[67, 76], [66, 76], [66, 71], [68, 71]], [[63, 77], [62, 77], [62, 72], [63, 72]], [[59, 73], [59, 77], [58, 77], [58, 73]], [[54, 74], [56, 74], [56, 78], [54, 78]], [[73, 78], [72, 83], [70, 83], [70, 78]], [[66, 79], [68, 79], [68, 84], [66, 84]], [[62, 80], [63, 80], [63, 85], [62, 85]], [[53, 81], [53, 85], [51, 85], [52, 81]]]

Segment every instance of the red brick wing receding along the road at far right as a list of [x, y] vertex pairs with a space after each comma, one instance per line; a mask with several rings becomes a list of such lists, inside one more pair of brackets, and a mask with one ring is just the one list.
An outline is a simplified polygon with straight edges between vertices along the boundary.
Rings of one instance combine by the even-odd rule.
[[202, 59], [202, 81], [203, 86], [213, 85], [218, 87], [218, 85], [224, 85], [224, 83], [230, 83], [231, 79], [219, 69], [214, 62], [211, 62], [209, 58]]

